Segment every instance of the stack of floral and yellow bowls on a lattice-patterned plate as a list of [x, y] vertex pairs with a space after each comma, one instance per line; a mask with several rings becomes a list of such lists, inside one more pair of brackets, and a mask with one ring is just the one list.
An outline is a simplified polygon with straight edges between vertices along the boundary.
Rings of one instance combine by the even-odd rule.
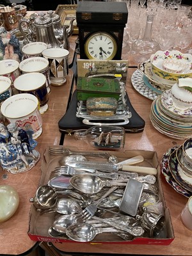
[[150, 100], [172, 88], [179, 78], [192, 77], [192, 55], [180, 51], [157, 51], [138, 64], [131, 82], [135, 90]]

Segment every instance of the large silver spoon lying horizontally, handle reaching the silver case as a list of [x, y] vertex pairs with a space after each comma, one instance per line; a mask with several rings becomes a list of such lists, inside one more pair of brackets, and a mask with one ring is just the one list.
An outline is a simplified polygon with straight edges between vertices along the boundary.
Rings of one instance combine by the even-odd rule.
[[94, 194], [99, 192], [104, 186], [126, 186], [127, 180], [101, 180], [92, 174], [77, 174], [70, 178], [72, 187], [83, 192]]

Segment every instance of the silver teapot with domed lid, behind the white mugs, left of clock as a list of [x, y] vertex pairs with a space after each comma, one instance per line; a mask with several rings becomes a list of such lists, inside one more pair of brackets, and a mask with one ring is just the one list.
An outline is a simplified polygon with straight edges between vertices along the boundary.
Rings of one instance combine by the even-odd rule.
[[19, 22], [19, 31], [24, 38], [26, 38], [28, 43], [44, 42], [48, 45], [48, 48], [69, 49], [67, 29], [68, 26], [60, 28], [60, 36], [58, 37], [55, 34], [51, 17], [49, 15], [45, 15], [45, 13], [36, 15], [31, 19], [21, 19]]

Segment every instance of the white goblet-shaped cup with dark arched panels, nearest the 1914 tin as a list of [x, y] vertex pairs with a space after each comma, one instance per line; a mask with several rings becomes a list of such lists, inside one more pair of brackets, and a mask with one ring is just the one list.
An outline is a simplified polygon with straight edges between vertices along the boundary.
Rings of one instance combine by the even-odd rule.
[[63, 85], [68, 74], [69, 51], [61, 48], [48, 48], [42, 51], [42, 55], [49, 61], [50, 80], [55, 86]]

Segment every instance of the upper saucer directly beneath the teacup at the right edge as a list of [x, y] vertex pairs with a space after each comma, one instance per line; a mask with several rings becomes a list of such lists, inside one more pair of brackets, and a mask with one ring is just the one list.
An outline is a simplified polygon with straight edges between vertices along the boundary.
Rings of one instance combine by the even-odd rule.
[[187, 189], [192, 193], [192, 177], [187, 176], [183, 171], [182, 168], [179, 166], [177, 156], [176, 156], [177, 150], [174, 150], [172, 154], [170, 154], [169, 157], [169, 169], [172, 173], [173, 178], [177, 183], [182, 186], [182, 188]]

